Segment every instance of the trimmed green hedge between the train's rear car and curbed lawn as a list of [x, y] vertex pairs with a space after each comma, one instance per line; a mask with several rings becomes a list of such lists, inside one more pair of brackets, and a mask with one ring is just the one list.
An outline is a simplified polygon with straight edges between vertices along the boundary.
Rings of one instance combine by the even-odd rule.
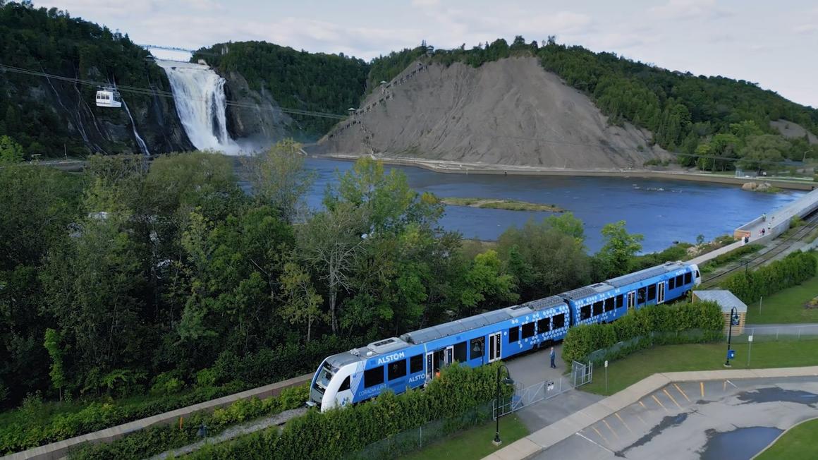
[[[563, 340], [562, 354], [566, 363], [582, 362], [587, 360], [591, 352], [610, 348], [618, 342], [645, 337], [645, 340], [636, 340], [636, 348], [628, 350], [632, 353], [651, 345], [713, 340], [721, 335], [723, 327], [721, 308], [714, 302], [650, 305], [632, 310], [609, 324], [581, 324], [571, 327]], [[706, 333], [690, 336], [680, 334], [690, 330]]]

